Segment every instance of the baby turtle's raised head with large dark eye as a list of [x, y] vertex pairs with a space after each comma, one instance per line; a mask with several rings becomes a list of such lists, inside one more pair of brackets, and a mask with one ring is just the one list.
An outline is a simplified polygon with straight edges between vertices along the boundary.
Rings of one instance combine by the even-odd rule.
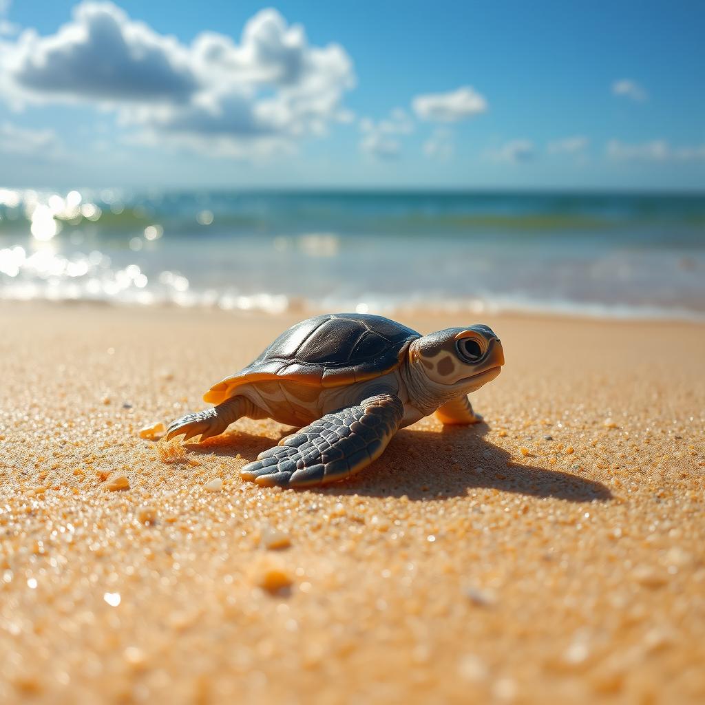
[[493, 380], [502, 369], [502, 343], [487, 326], [446, 328], [418, 338], [411, 360], [433, 386], [469, 393]]

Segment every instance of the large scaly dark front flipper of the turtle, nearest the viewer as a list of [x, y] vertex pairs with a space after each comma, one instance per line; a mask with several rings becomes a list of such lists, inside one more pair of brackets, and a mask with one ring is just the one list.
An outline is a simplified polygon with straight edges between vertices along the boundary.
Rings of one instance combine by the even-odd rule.
[[263, 486], [304, 487], [345, 479], [379, 458], [404, 415], [396, 396], [379, 394], [326, 414], [240, 471]]

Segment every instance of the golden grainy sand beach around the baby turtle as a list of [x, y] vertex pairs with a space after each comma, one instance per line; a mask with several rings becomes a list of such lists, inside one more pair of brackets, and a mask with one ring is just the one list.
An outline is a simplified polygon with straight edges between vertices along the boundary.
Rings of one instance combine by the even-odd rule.
[[297, 318], [0, 306], [0, 701], [705, 698], [705, 326], [481, 317], [486, 424], [325, 489], [137, 437]]

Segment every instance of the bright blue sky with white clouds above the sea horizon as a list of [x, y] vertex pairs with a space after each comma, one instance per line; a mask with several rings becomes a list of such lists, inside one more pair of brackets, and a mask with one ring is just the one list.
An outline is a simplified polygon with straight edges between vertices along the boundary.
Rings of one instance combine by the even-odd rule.
[[273, 7], [0, 0], [0, 185], [705, 188], [702, 3]]

